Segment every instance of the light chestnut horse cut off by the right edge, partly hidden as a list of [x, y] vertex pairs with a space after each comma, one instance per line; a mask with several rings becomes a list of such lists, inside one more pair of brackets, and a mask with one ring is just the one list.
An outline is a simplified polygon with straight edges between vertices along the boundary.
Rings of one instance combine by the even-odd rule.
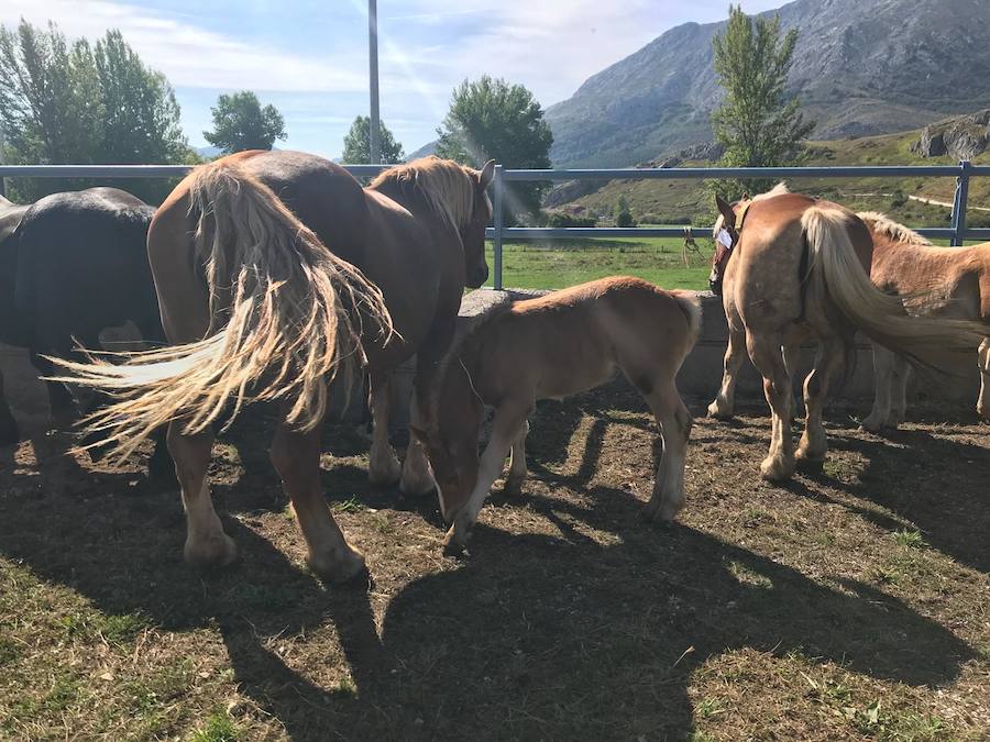
[[[905, 298], [909, 311], [930, 317], [981, 320], [990, 331], [990, 242], [971, 247], [935, 247], [883, 214], [858, 214], [873, 237], [870, 279], [881, 291]], [[924, 299], [919, 307], [917, 298]], [[990, 340], [979, 346], [977, 412], [990, 420]], [[873, 343], [877, 394], [862, 421], [867, 430], [897, 428], [904, 420], [909, 362]]]

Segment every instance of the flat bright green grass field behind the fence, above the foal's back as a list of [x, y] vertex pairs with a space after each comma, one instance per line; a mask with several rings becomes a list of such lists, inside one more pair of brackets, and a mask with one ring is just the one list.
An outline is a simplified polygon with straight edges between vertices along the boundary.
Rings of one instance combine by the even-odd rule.
[[[681, 257], [683, 240], [675, 237], [506, 243], [503, 285], [557, 289], [605, 276], [629, 275], [663, 288], [702, 290], [708, 287], [710, 242], [698, 240], [702, 256], [692, 255], [691, 267], [686, 268]], [[492, 265], [490, 244], [488, 267]]]

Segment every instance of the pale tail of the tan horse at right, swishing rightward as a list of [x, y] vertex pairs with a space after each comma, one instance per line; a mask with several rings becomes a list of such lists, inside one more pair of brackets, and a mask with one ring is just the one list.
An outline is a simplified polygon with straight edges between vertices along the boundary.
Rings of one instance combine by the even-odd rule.
[[884, 294], [862, 268], [849, 228], [855, 217], [815, 204], [801, 217], [809, 246], [809, 292], [827, 294], [839, 310], [871, 340], [923, 366], [948, 370], [945, 353], [971, 354], [988, 333], [979, 322], [909, 317], [901, 299]]

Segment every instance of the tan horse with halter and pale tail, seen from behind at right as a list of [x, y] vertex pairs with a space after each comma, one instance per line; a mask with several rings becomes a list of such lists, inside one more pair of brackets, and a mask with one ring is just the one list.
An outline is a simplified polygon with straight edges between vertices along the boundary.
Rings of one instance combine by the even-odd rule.
[[[760, 466], [767, 479], [790, 477], [795, 456], [810, 467], [825, 459], [822, 408], [857, 329], [936, 368], [945, 353], [971, 353], [987, 332], [976, 322], [908, 317], [897, 297], [870, 283], [870, 232], [837, 203], [788, 193], [782, 185], [735, 206], [718, 197], [716, 203], [721, 217], [713, 230], [710, 283], [722, 290], [729, 341], [722, 388], [708, 413], [733, 414], [745, 346], [763, 376], [773, 420], [770, 453]], [[806, 421], [795, 452], [791, 376], [806, 339], [817, 340], [818, 352], [804, 380]]]

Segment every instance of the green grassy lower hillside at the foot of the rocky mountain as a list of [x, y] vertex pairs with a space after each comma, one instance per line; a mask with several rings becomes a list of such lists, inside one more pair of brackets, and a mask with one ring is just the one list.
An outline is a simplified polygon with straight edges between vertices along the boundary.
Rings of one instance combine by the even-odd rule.
[[[856, 140], [810, 142], [810, 165], [953, 165], [957, 159], [923, 157], [914, 151], [921, 131], [884, 134]], [[972, 160], [990, 164], [990, 152]], [[684, 162], [682, 167], [711, 166], [708, 162]], [[876, 209], [912, 226], [945, 226], [950, 209], [927, 204], [921, 199], [950, 203], [955, 191], [952, 178], [839, 178], [796, 179], [793, 190], [823, 196], [856, 209]], [[619, 196], [625, 196], [637, 219], [676, 223], [685, 218], [695, 225], [711, 223], [711, 195], [695, 180], [614, 180], [600, 190], [575, 198], [591, 213], [610, 214]], [[902, 202], [903, 201], [903, 202]], [[990, 223], [990, 178], [974, 178], [969, 186], [969, 223]]]

